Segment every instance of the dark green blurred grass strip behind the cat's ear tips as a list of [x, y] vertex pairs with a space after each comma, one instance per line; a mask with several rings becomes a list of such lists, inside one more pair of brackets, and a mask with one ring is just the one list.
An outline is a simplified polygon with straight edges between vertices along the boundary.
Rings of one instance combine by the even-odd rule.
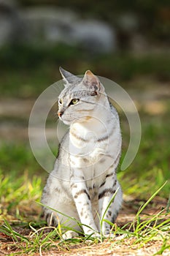
[[[169, 81], [170, 54], [126, 52], [98, 56], [80, 47], [56, 45], [53, 48], [36, 45], [6, 46], [0, 49], [1, 95], [4, 97], [36, 97], [43, 90], [61, 80], [58, 67], [62, 66], [82, 75], [92, 69], [97, 75], [116, 80], [117, 83], [142, 76], [163, 82]], [[135, 86], [137, 86], [135, 84]]]

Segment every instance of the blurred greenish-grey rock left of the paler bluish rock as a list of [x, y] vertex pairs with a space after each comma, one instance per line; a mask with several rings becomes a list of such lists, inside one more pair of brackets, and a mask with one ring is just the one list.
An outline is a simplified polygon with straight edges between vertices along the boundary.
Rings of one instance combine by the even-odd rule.
[[30, 42], [68, 42], [74, 12], [57, 10], [50, 7], [31, 7], [23, 10], [22, 16], [26, 25], [26, 38]]

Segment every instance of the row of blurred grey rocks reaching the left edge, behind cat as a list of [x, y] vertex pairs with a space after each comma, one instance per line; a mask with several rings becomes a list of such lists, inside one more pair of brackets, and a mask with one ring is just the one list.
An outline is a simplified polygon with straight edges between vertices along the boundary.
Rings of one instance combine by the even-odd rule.
[[30, 7], [19, 10], [15, 1], [0, 0], [0, 46], [29, 42], [79, 45], [90, 53], [107, 53], [116, 48], [115, 31], [100, 20], [82, 20], [71, 10]]

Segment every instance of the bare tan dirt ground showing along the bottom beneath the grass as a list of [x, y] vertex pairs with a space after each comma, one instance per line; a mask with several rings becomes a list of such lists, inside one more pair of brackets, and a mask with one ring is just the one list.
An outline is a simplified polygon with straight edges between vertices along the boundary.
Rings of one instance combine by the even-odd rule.
[[[124, 225], [128, 224], [128, 222], [133, 222], [135, 214], [137, 212], [137, 209], [143, 204], [144, 202], [141, 200], [124, 200], [123, 208], [120, 211], [119, 217], [117, 218], [117, 227], [123, 227]], [[144, 220], [146, 217], [151, 216], [152, 214], [157, 214], [159, 211], [161, 211], [163, 208], [166, 208], [167, 200], [163, 200], [161, 197], [155, 197], [154, 200], [145, 208], [144, 212], [141, 215], [141, 218]], [[166, 218], [169, 219], [170, 222], [170, 214], [166, 215]], [[126, 227], [128, 228], [129, 225]], [[21, 227], [14, 227], [14, 229], [22, 234], [23, 236], [26, 236], [30, 238], [30, 235], [32, 233], [31, 230], [28, 228], [21, 228]], [[133, 231], [133, 230], [131, 230]], [[151, 256], [155, 255], [156, 252], [158, 252], [161, 249], [161, 246], [163, 245], [163, 241], [156, 240], [155, 241], [148, 241], [146, 244], [142, 243], [134, 243], [136, 241], [136, 238], [131, 236], [130, 238], [125, 238], [122, 236], [115, 236], [110, 237], [104, 240], [101, 243], [95, 243], [92, 241], [86, 241], [86, 242], [80, 242], [74, 244], [73, 242], [71, 244], [60, 244], [60, 241], [56, 241], [53, 243], [53, 246], [55, 249], [46, 250], [43, 252], [41, 248], [39, 249], [39, 252], [31, 253], [30, 255], [45, 255], [45, 256], [53, 256], [53, 255], [62, 255], [62, 256], [69, 256], [69, 255], [98, 255], [98, 256]], [[170, 241], [169, 241], [170, 245]], [[24, 244], [23, 244], [24, 246]], [[18, 249], [18, 242], [12, 241], [12, 238], [9, 236], [4, 235], [3, 233], [0, 233], [0, 255], [15, 255], [15, 253], [19, 252], [20, 249]], [[12, 254], [13, 253], [13, 254]], [[21, 255], [25, 256], [28, 254], [23, 254], [21, 252]], [[163, 256], [170, 255], [169, 249], [166, 249], [163, 253]]]

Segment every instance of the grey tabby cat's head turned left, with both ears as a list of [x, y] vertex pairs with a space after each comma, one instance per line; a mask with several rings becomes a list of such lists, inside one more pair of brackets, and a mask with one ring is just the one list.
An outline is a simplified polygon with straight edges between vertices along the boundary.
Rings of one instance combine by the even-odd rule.
[[99, 104], [104, 86], [90, 70], [83, 78], [78, 78], [60, 67], [65, 88], [58, 97], [58, 116], [65, 124], [73, 121], [85, 121], [93, 116], [93, 110]]

